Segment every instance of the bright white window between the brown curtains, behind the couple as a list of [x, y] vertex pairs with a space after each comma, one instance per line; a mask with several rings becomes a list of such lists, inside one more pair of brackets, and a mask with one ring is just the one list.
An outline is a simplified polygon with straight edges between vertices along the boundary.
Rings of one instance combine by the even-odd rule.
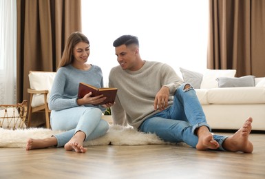
[[[82, 28], [89, 38], [89, 63], [103, 70], [105, 85], [118, 65], [113, 41], [138, 36], [147, 61], [168, 63], [196, 72], [206, 69], [209, 0], [83, 0]], [[181, 75], [181, 74], [180, 74]]]

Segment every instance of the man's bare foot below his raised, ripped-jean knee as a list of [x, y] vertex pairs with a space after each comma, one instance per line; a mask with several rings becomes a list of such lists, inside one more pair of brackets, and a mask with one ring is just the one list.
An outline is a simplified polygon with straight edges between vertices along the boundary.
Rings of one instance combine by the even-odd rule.
[[206, 126], [198, 128], [197, 136], [198, 143], [196, 149], [198, 150], [218, 149], [218, 147], [220, 147], [219, 143], [213, 139], [213, 135]]

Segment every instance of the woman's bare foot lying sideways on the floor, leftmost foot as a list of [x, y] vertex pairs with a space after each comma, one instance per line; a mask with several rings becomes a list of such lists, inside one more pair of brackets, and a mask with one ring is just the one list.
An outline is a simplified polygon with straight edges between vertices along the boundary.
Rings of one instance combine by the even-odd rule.
[[57, 139], [55, 137], [44, 138], [44, 139], [29, 138], [27, 145], [25, 146], [25, 149], [26, 150], [43, 149], [47, 147], [52, 147], [54, 145], [57, 145]]

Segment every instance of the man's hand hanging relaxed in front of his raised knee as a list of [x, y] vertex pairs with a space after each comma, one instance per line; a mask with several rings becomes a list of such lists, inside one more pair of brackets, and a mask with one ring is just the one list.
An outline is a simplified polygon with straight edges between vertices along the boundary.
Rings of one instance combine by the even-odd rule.
[[161, 87], [159, 92], [156, 94], [155, 101], [153, 103], [153, 107], [155, 110], [159, 109], [160, 111], [167, 108], [169, 101], [169, 88], [168, 87]]

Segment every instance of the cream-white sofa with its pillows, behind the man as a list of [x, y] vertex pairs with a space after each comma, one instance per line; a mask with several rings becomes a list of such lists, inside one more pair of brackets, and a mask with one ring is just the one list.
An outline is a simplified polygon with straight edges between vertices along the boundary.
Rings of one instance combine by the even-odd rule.
[[[235, 70], [230, 70], [230, 74], [218, 74], [218, 71], [228, 72], [229, 70], [208, 70], [209, 74], [206, 76], [204, 75], [207, 72], [200, 74], [183, 68], [180, 68], [180, 71], [184, 81], [197, 85], [195, 92], [212, 129], [239, 129], [246, 118], [251, 116], [253, 130], [265, 131], [265, 78], [253, 76], [253, 84], [250, 86], [245, 84], [244, 87], [232, 87], [234, 82], [245, 81], [242, 78], [233, 77]], [[218, 86], [220, 81], [216, 81], [216, 78], [221, 76], [226, 81], [231, 80], [232, 86], [226, 87], [224, 84], [223, 87]], [[195, 82], [194, 78], [197, 78]]]

